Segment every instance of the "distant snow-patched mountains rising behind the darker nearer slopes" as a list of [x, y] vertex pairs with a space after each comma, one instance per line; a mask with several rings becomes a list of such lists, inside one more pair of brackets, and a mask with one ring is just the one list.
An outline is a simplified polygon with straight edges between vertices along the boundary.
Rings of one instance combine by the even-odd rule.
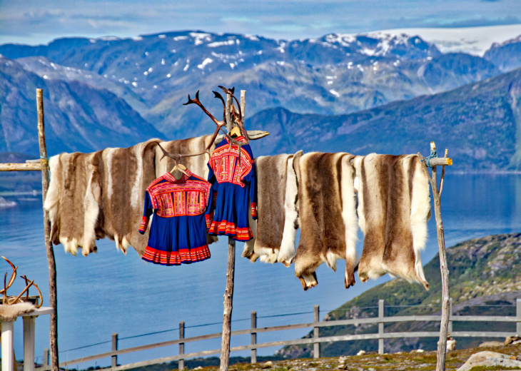
[[[512, 59], [517, 44], [498, 46], [510, 48], [501, 60]], [[277, 41], [175, 31], [6, 44], [0, 54], [49, 86], [80, 82], [111, 92], [168, 138], [186, 136], [188, 127], [191, 136], [213, 130], [198, 107], [182, 103], [201, 91], [201, 102], [218, 116], [222, 106], [211, 93], [218, 85], [248, 91], [247, 117], [275, 107], [333, 115], [449, 91], [510, 68], [496, 64], [500, 57], [444, 54], [421, 36], [391, 32]]]

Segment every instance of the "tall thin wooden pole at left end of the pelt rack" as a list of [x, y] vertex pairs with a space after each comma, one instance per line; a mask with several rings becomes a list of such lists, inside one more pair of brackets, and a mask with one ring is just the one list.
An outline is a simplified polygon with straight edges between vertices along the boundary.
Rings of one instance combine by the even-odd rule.
[[[44, 126], [44, 92], [36, 89], [36, 108], [38, 111], [38, 141], [40, 145], [41, 162], [41, 198], [45, 202], [45, 196], [49, 189], [49, 159], [45, 144]], [[44, 209], [44, 235], [45, 248], [47, 250], [47, 262], [49, 263], [49, 302], [53, 312], [51, 313], [51, 328], [49, 331], [49, 342], [51, 346], [51, 370], [59, 370], [58, 360], [58, 301], [56, 298], [56, 261], [54, 260], [54, 249], [51, 243], [51, 220], [49, 211]]]

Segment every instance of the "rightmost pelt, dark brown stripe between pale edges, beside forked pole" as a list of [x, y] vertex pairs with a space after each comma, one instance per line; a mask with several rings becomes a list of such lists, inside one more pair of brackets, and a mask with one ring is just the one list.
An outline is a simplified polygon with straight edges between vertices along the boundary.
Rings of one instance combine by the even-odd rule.
[[357, 156], [355, 188], [364, 244], [358, 276], [365, 282], [385, 273], [426, 289], [420, 251], [430, 218], [429, 181], [416, 155]]

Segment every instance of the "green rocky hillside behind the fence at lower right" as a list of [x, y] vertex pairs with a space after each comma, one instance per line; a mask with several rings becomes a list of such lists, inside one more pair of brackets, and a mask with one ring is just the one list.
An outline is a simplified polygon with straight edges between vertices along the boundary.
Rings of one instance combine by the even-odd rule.
[[[515, 315], [515, 300], [521, 298], [521, 233], [491, 235], [459, 243], [447, 249], [450, 271], [450, 297], [455, 314]], [[344, 320], [378, 315], [378, 300], [385, 300], [385, 316], [440, 313], [440, 260], [436, 256], [424, 267], [430, 290], [402, 279], [390, 280], [365, 291], [326, 315], [325, 320]], [[422, 305], [410, 308], [409, 305]], [[494, 306], [496, 305], [496, 306]], [[502, 305], [502, 306], [497, 306]], [[485, 330], [487, 322], [455, 322], [453, 330]], [[495, 322], [495, 330], [515, 331], [515, 324]], [[396, 323], [385, 332], [439, 330], [439, 322]], [[377, 332], [376, 325], [321, 327], [320, 336]], [[307, 337], [311, 336], [310, 334]], [[385, 340], [386, 352], [422, 348], [434, 350], [437, 339], [410, 338]], [[482, 338], [457, 339], [458, 348], [476, 346]], [[333, 342], [321, 346], [322, 357], [353, 355], [358, 350], [375, 351], [378, 340]], [[313, 345], [284, 347], [276, 354], [283, 357], [310, 357]]]

